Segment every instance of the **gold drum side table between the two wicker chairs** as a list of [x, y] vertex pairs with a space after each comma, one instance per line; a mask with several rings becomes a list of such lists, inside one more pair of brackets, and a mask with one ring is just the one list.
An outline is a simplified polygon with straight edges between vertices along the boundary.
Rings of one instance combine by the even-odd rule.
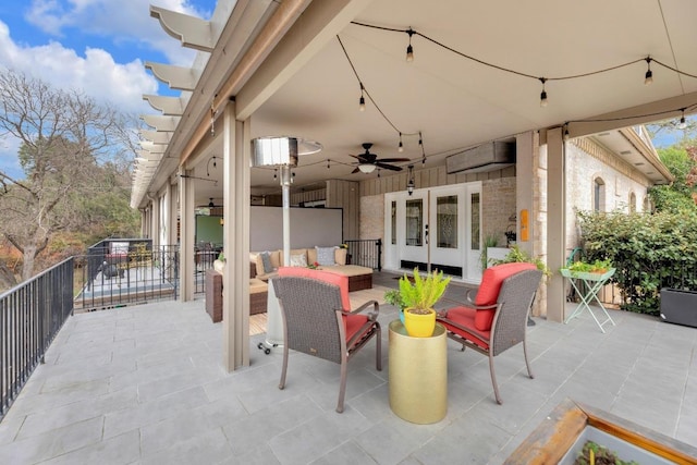
[[390, 408], [411, 423], [440, 421], [448, 413], [448, 340], [436, 323], [430, 338], [412, 338], [400, 320], [390, 322]]

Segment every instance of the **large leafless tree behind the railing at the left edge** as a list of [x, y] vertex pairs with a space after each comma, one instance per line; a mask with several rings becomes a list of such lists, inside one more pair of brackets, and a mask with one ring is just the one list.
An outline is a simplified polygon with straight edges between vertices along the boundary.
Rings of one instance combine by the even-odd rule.
[[113, 187], [105, 160], [123, 155], [124, 119], [77, 91], [0, 71], [0, 132], [21, 140], [25, 179], [0, 171], [0, 234], [20, 250], [22, 279], [52, 234], [80, 229], [81, 208]]

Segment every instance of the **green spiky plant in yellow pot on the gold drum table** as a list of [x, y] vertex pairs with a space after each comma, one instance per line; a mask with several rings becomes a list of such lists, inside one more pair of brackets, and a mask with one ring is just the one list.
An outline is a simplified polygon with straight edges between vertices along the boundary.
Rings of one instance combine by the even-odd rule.
[[404, 328], [411, 336], [429, 338], [436, 328], [433, 305], [442, 297], [451, 277], [433, 270], [421, 278], [414, 268], [413, 282], [404, 274], [400, 278], [400, 296], [404, 305]]

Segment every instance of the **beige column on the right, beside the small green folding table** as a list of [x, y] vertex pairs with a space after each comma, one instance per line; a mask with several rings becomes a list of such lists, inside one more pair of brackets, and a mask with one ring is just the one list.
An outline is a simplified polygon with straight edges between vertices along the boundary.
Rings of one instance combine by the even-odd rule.
[[547, 132], [547, 266], [552, 270], [547, 287], [547, 319], [564, 321], [564, 278], [558, 270], [565, 264], [565, 160], [562, 127]]

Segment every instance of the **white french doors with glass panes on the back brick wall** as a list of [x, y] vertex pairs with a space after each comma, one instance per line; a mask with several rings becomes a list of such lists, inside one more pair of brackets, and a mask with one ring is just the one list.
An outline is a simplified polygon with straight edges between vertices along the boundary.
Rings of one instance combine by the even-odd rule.
[[386, 195], [387, 269], [439, 269], [463, 281], [481, 277], [481, 183]]

